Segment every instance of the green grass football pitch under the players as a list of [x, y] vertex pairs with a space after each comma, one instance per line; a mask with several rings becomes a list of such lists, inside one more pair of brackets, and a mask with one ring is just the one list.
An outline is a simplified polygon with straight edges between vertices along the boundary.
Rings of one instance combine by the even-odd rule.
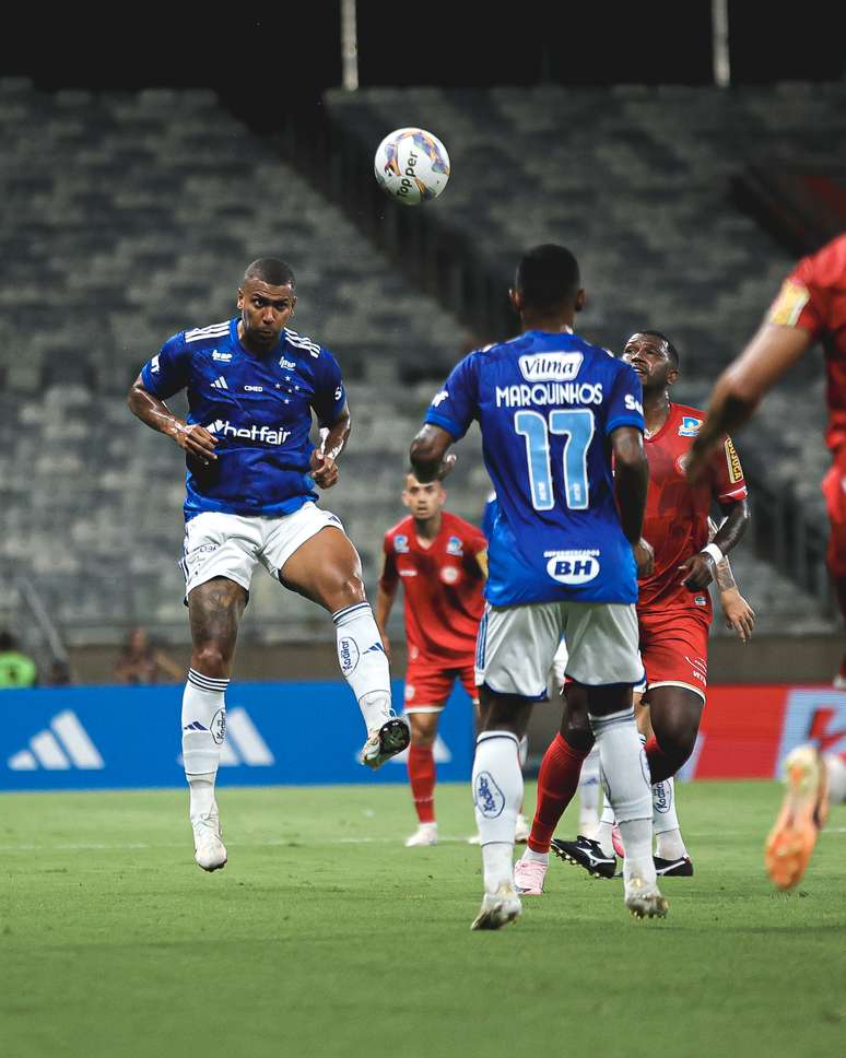
[[230, 862], [205, 874], [185, 792], [3, 795], [0, 1054], [844, 1054], [846, 808], [783, 894], [779, 787], [682, 787], [696, 874], [666, 881], [665, 921], [554, 861], [480, 933], [469, 791], [437, 796], [444, 840], [406, 849], [401, 786], [224, 789]]

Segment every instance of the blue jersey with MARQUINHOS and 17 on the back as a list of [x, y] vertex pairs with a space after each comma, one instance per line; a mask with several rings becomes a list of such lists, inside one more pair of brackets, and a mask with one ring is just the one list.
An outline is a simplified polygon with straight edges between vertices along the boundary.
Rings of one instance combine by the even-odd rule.
[[487, 600], [635, 602], [608, 444], [644, 428], [628, 364], [576, 334], [527, 331], [466, 356], [425, 421], [458, 439], [474, 419], [496, 492]]

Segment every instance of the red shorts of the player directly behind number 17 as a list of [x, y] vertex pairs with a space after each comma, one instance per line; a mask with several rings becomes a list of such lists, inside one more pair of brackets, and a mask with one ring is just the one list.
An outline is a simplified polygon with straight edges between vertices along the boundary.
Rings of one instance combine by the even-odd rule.
[[704, 700], [708, 685], [708, 612], [638, 610], [637, 626], [647, 690], [686, 687]]

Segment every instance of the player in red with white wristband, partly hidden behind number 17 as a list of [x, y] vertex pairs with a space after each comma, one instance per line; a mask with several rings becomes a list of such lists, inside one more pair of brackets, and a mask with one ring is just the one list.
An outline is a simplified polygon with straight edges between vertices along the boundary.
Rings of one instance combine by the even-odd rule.
[[[679, 354], [672, 342], [658, 331], [637, 332], [626, 342], [623, 361], [631, 364], [643, 386], [649, 461], [643, 533], [654, 548], [655, 567], [638, 581], [637, 623], [651, 729], [645, 751], [653, 783], [655, 868], [660, 873], [691, 874], [671, 780], [693, 752], [705, 705], [712, 621], [708, 584], [716, 577], [721, 590], [737, 591], [730, 572], [719, 567], [745, 531], [747, 485], [728, 437], [712, 457], [701, 484], [688, 482], [684, 460], [704, 413], [670, 400], [670, 389], [679, 378]], [[715, 502], [726, 518], [708, 542]], [[729, 608], [748, 635], [754, 615], [745, 600], [738, 595]], [[573, 797], [575, 764], [568, 747], [580, 744], [589, 750], [594, 742], [587, 719], [578, 700], [567, 694], [561, 731], [547, 750], [538, 775], [532, 832], [517, 865], [517, 886], [527, 895], [540, 895], [543, 890], [550, 847], [591, 874], [612, 878], [616, 871], [613, 806], [603, 813], [596, 840], [585, 835], [575, 842], [552, 839]]]

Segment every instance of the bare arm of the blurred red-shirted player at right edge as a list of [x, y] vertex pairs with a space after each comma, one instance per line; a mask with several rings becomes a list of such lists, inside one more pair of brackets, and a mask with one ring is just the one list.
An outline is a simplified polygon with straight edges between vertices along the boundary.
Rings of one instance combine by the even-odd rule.
[[725, 434], [749, 422], [764, 393], [800, 358], [811, 344], [803, 327], [764, 324], [738, 358], [714, 386], [708, 414], [691, 446], [688, 478], [697, 481], [708, 456]]

